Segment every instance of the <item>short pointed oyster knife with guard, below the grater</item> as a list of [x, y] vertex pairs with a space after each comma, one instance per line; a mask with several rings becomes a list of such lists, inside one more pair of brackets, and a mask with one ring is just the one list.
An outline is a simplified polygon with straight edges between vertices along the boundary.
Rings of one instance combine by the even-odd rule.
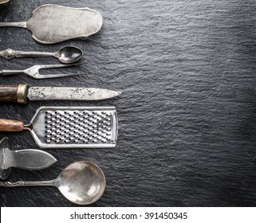
[[11, 166], [26, 170], [41, 170], [57, 161], [56, 158], [45, 151], [10, 151], [9, 148], [9, 139], [2, 139], [0, 142], [0, 178], [3, 180], [10, 175]]

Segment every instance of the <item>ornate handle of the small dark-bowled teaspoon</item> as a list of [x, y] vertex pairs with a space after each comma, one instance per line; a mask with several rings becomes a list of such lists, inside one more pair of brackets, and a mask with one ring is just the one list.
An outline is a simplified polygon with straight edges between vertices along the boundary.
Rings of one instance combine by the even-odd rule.
[[0, 57], [13, 59], [15, 57], [51, 57], [54, 53], [33, 52], [33, 51], [18, 51], [14, 49], [5, 49], [0, 51]]

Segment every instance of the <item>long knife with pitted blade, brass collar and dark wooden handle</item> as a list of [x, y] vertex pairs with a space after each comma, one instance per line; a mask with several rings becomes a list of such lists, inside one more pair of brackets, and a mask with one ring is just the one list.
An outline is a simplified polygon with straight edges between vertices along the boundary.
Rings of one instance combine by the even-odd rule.
[[102, 88], [30, 87], [27, 84], [0, 85], [0, 102], [26, 104], [29, 100], [104, 100], [119, 96]]

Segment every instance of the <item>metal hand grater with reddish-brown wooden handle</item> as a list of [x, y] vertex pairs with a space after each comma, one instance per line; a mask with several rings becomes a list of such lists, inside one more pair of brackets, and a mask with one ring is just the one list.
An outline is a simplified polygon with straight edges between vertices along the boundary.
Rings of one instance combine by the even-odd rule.
[[29, 124], [0, 119], [0, 131], [28, 130], [41, 148], [113, 148], [117, 139], [114, 107], [41, 107]]

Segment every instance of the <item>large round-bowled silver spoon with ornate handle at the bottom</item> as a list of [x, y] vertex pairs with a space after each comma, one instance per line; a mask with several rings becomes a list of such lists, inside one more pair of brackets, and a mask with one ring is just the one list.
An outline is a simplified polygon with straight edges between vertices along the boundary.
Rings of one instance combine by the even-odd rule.
[[89, 205], [102, 196], [106, 181], [102, 170], [92, 162], [73, 162], [61, 174], [50, 181], [0, 182], [0, 186], [55, 186], [69, 201]]

